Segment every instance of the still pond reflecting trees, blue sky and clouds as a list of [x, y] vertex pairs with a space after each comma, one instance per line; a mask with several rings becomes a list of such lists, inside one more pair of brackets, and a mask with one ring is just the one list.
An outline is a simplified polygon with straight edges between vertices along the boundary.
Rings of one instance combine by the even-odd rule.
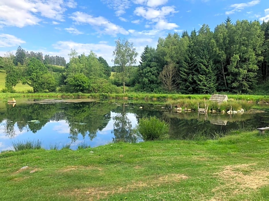
[[[175, 112], [162, 109], [164, 103], [135, 103], [128, 100], [17, 100], [0, 103], [0, 151], [12, 149], [12, 142], [41, 140], [42, 146], [82, 142], [91, 147], [114, 141], [135, 142], [132, 128], [142, 117], [155, 115], [170, 124], [173, 139], [191, 139], [192, 134], [225, 133], [230, 129], [252, 129], [269, 125], [267, 112], [233, 114]], [[140, 108], [142, 107], [142, 108]]]

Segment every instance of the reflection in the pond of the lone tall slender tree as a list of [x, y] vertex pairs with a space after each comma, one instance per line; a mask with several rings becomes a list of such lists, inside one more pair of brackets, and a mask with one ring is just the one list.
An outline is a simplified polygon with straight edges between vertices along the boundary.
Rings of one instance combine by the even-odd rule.
[[130, 121], [130, 119], [128, 119], [126, 114], [127, 113], [125, 111], [125, 103], [123, 103], [121, 112], [118, 113], [118, 115], [116, 115], [115, 117], [113, 117], [114, 125], [113, 131], [111, 131], [111, 133], [115, 136], [113, 137], [113, 142], [137, 142], [137, 137], [132, 132], [132, 122]]

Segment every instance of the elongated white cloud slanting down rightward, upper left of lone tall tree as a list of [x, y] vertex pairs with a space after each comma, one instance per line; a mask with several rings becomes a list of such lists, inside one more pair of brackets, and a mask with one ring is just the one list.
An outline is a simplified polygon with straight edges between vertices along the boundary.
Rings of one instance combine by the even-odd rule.
[[105, 33], [112, 36], [116, 36], [116, 34], [119, 33], [124, 35], [129, 34], [124, 28], [111, 23], [102, 16], [93, 17], [87, 13], [76, 11], [75, 13], [72, 13], [70, 18], [78, 24], [92, 25], [100, 34]]

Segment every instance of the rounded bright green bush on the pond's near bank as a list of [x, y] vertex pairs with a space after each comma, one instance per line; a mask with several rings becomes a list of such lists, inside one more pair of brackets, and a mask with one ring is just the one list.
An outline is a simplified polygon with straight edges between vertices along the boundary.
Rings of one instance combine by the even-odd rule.
[[155, 116], [139, 120], [135, 133], [145, 141], [169, 138], [169, 124]]

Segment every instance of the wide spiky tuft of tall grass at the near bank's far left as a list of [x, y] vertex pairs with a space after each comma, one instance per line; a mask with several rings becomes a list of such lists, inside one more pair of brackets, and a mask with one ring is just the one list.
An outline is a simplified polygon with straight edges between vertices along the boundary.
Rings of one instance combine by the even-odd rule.
[[24, 141], [17, 141], [11, 142], [12, 147], [15, 151], [21, 151], [26, 149], [41, 149], [42, 142], [39, 140], [24, 140]]

